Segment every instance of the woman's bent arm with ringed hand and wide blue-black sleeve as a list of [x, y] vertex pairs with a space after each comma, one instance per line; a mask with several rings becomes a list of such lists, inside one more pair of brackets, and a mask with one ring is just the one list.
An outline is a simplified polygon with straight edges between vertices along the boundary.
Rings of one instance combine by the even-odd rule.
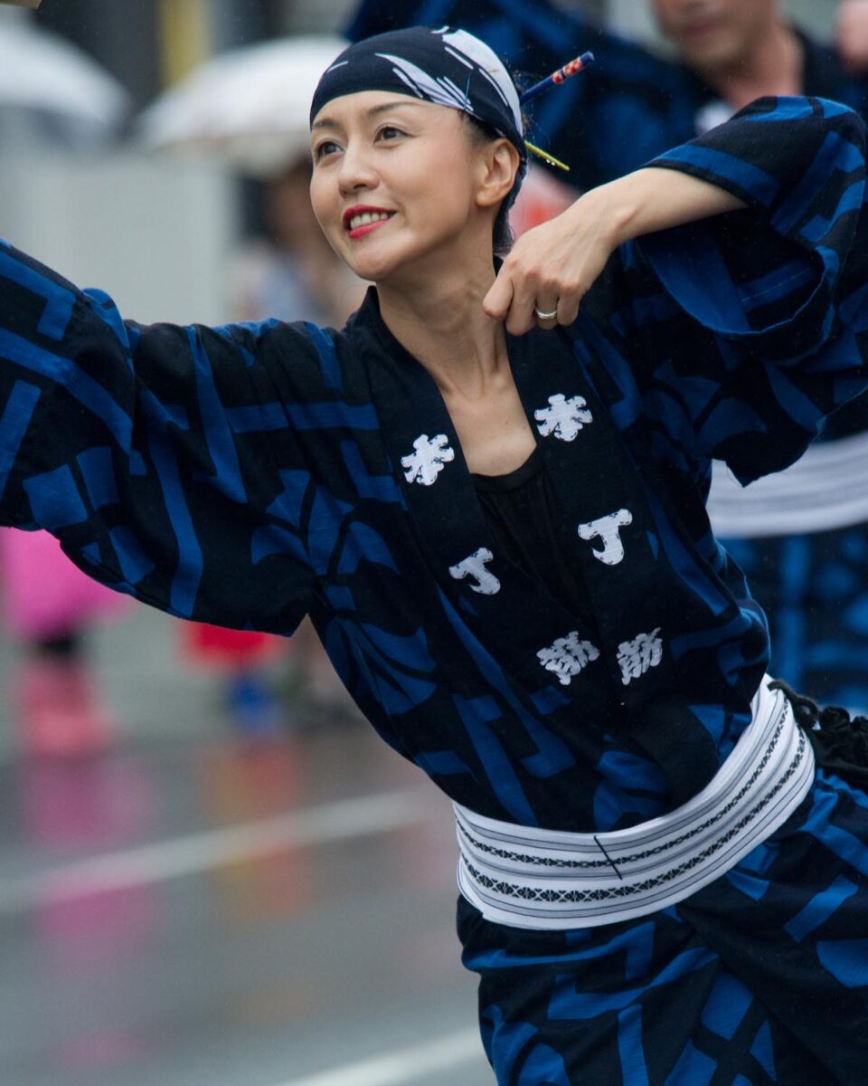
[[[487, 304], [510, 330], [556, 304], [566, 324], [637, 239], [607, 276], [620, 302], [603, 334], [621, 328], [637, 380], [677, 386], [693, 455], [742, 482], [780, 470], [868, 387], [865, 144], [837, 102], [761, 99], [528, 231]], [[592, 331], [604, 291], [577, 329]]]

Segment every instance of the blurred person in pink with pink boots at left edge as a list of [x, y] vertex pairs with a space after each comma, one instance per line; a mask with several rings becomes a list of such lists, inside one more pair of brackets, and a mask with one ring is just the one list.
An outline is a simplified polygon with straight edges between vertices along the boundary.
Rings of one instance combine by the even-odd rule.
[[7, 630], [25, 646], [13, 698], [22, 749], [77, 757], [104, 749], [113, 725], [82, 636], [132, 602], [86, 577], [48, 532], [0, 531]]

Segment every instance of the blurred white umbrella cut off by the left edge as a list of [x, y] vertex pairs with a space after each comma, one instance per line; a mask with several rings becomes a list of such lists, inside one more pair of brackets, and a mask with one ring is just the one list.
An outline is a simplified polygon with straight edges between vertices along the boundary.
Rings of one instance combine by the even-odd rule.
[[124, 87], [87, 53], [18, 16], [0, 17], [0, 143], [21, 136], [77, 147], [110, 137], [128, 110]]

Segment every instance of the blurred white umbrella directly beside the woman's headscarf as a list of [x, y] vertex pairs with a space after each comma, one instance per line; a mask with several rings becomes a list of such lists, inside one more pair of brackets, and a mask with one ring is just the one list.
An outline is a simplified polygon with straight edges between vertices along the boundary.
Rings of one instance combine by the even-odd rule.
[[314, 90], [345, 46], [304, 36], [221, 53], [140, 115], [137, 139], [149, 150], [210, 154], [254, 177], [277, 174], [307, 151]]

